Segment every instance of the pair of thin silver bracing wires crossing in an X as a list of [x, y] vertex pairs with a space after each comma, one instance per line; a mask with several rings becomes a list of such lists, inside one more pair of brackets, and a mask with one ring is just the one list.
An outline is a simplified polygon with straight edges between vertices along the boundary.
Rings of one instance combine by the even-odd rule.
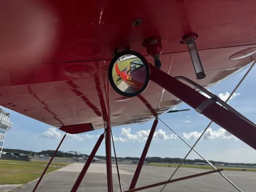
[[[247, 70], [247, 72], [244, 74], [243, 78], [240, 80], [240, 82], [236, 85], [235, 89], [232, 91], [232, 93], [228, 96], [228, 99], [225, 101], [225, 103], [228, 102], [228, 100], [232, 97], [232, 95], [235, 93], [235, 91], [237, 90], [237, 88], [240, 86], [240, 84], [244, 81], [244, 78], [248, 75], [248, 73], [251, 71], [251, 69], [253, 68], [253, 66], [255, 65], [256, 60], [254, 60], [254, 62], [252, 63], [252, 66]], [[159, 119], [159, 118], [158, 118]], [[160, 119], [159, 119], [160, 120]], [[160, 120], [161, 122], [163, 122], [162, 120]], [[164, 123], [164, 122], [163, 122]], [[210, 127], [210, 125], [212, 124], [212, 121], [207, 125], [207, 127], [205, 128], [205, 130], [202, 132], [202, 134], [200, 135], [200, 137], [196, 140], [195, 144], [191, 147], [189, 145], [189, 147], [191, 147], [191, 149], [188, 151], [188, 154], [184, 157], [184, 159], [181, 161], [181, 163], [178, 165], [178, 167], [175, 169], [175, 171], [172, 173], [172, 176], [169, 178], [169, 180], [172, 179], [173, 175], [178, 171], [178, 169], [180, 168], [180, 166], [184, 163], [185, 159], [187, 158], [187, 156], [190, 154], [190, 152], [192, 150], [194, 150], [194, 147], [196, 146], [196, 144], [198, 143], [198, 141], [202, 138], [202, 136], [204, 135], [204, 133], [207, 131], [207, 129]], [[166, 124], [165, 124], [166, 125]], [[167, 125], [166, 125], [167, 126]], [[168, 126], [167, 126], [168, 127]], [[172, 131], [173, 132], [173, 131]], [[175, 133], [175, 132], [174, 132]], [[176, 133], [175, 133], [176, 134]], [[177, 135], [177, 134], [176, 134]], [[177, 135], [178, 136], [178, 135]], [[180, 138], [180, 136], [178, 136]], [[183, 140], [184, 141], [184, 140]], [[185, 141], [186, 142], [186, 141]], [[186, 142], [187, 143], [187, 142]], [[194, 150], [196, 152], [196, 150]], [[201, 156], [198, 152], [196, 152], [199, 156]], [[204, 158], [203, 156], [201, 156], [202, 158]], [[206, 159], [204, 159], [206, 160]], [[208, 162], [207, 162], [208, 163]], [[210, 162], [209, 162], [210, 163]], [[213, 168], [215, 168], [212, 164], [210, 164]], [[215, 168], [216, 169], [216, 168]], [[233, 185], [239, 192], [243, 192], [241, 189], [239, 189], [234, 183], [232, 183], [226, 176], [224, 176], [223, 174], [221, 174], [231, 185]], [[164, 185], [164, 187], [160, 190], [160, 192], [162, 192], [165, 188], [167, 184]]]

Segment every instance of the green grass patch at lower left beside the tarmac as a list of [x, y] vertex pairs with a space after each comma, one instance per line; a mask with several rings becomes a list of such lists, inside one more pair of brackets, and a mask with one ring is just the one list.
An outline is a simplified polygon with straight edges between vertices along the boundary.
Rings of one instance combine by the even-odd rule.
[[[48, 162], [45, 161], [13, 161], [0, 160], [0, 185], [26, 184], [41, 176]], [[52, 163], [55, 166], [67, 166], [70, 163]], [[59, 167], [50, 166], [46, 172], [52, 172]]]

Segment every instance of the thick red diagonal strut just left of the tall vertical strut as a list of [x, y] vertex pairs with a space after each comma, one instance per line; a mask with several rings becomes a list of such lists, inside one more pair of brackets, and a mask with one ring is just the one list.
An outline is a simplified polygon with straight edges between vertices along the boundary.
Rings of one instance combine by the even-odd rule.
[[98, 139], [97, 143], [95, 144], [94, 148], [92, 149], [92, 153], [90, 154], [86, 163], [84, 164], [84, 168], [82, 169], [79, 176], [77, 177], [76, 182], [70, 192], [76, 192], [76, 190], [78, 189], [78, 187], [79, 187], [80, 183], [82, 182], [84, 175], [89, 168], [89, 165], [92, 163], [92, 159], [95, 156], [96, 152], [98, 151], [103, 139], [104, 139], [104, 133], [100, 135], [100, 138]]

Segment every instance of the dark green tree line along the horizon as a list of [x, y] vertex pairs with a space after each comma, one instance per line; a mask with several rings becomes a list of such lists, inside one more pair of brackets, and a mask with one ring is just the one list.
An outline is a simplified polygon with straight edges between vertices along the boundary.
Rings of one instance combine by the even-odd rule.
[[[44, 151], [40, 151], [40, 152], [34, 152], [34, 151], [28, 151], [28, 150], [21, 150], [21, 149], [3, 149], [4, 152], [8, 152], [8, 153], [23, 153], [23, 154], [32, 154], [32, 156], [34, 155], [45, 155], [48, 154], [49, 156], [52, 156], [53, 153], [55, 152], [55, 150], [44, 150]], [[81, 154], [78, 151], [67, 151], [67, 152], [63, 152], [63, 151], [57, 151], [56, 153], [56, 157], [82, 157], [83, 155], [85, 156], [89, 156], [87, 154]], [[95, 156], [96, 158], [99, 159], [106, 159], [106, 156]], [[114, 159], [115, 157], [112, 156], [112, 159]], [[140, 157], [117, 157], [118, 159], [122, 159], [122, 160], [140, 160]], [[152, 163], [180, 163], [182, 161], [181, 158], [171, 158], [171, 157], [147, 157], [145, 159], [145, 161], [149, 161]], [[246, 166], [256, 166], [256, 163], [254, 164], [249, 164], [249, 163], [228, 163], [228, 162], [222, 162], [222, 161], [210, 161], [213, 165], [214, 164], [226, 164], [226, 165], [231, 165], [231, 164], [235, 164], [235, 165], [246, 165]], [[185, 159], [184, 163], [188, 163], [188, 164], [192, 164], [192, 163], [206, 163], [203, 159]]]

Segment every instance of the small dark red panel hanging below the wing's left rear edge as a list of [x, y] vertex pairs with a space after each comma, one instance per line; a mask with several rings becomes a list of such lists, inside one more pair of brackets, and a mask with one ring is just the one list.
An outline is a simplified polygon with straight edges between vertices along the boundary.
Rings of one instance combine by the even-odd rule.
[[59, 130], [67, 132], [69, 134], [79, 134], [79, 133], [92, 131], [93, 127], [91, 123], [85, 123], [85, 124], [63, 126], [63, 127], [60, 127]]

